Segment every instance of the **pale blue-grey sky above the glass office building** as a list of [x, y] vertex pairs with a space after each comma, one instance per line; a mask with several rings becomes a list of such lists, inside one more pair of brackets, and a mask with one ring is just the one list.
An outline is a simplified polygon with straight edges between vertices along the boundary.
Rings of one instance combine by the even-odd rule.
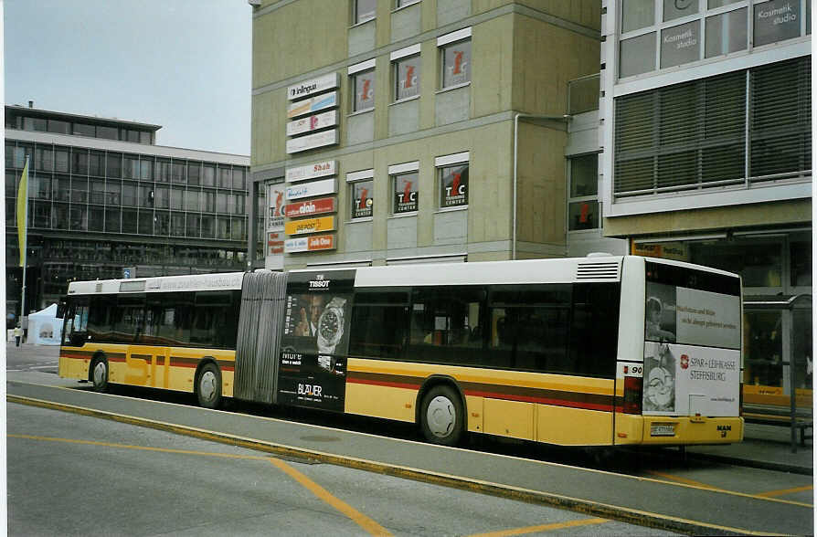
[[247, 0], [0, 0], [5, 103], [162, 125], [156, 143], [249, 155]]

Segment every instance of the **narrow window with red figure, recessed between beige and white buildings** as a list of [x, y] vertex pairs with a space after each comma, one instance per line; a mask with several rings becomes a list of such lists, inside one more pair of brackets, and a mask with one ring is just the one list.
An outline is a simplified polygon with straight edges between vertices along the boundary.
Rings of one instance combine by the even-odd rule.
[[599, 227], [599, 155], [568, 159], [568, 230]]

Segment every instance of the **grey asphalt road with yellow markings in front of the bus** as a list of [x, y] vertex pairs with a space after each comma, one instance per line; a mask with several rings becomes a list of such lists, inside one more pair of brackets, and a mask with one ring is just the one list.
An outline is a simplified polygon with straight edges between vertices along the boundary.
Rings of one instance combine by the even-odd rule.
[[[56, 361], [52, 362], [52, 367], [55, 365]], [[12, 371], [15, 368], [27, 368], [27, 371]], [[575, 450], [518, 442], [483, 440], [472, 443], [471, 449], [451, 453], [451, 450], [438, 450], [436, 447], [414, 442], [417, 433], [413, 427], [391, 426], [388, 422], [242, 405], [234, 405], [233, 410], [239, 410], [239, 414], [213, 413], [196, 408], [193, 405], [194, 399], [186, 395], [170, 395], [133, 388], [119, 388], [113, 396], [96, 395], [90, 393], [88, 384], [60, 381], [54, 374], [43, 374], [43, 371], [48, 371], [48, 359], [9, 360], [8, 369], [10, 394], [26, 390], [32, 393], [36, 391], [39, 394], [38, 398], [50, 397], [59, 400], [76, 393], [81, 395], [83, 405], [100, 405], [101, 408], [122, 416], [143, 413], [149, 419], [164, 422], [173, 421], [175, 416], [181, 419], [183, 414], [191, 416], [200, 414], [199, 417], [194, 416], [194, 419], [199, 420], [194, 425], [208, 430], [226, 430], [219, 424], [227, 423], [233, 426], [237, 420], [246, 420], [248, 427], [241, 437], [258, 437], [262, 430], [271, 433], [273, 429], [285, 427], [278, 437], [284, 439], [286, 445], [304, 443], [319, 448], [321, 452], [341, 453], [349, 443], [350, 455], [367, 459], [379, 457], [377, 451], [375, 455], [369, 454], [366, 457], [363, 455], [368, 448], [366, 444], [377, 440], [377, 443], [382, 444], [378, 449], [383, 450], [386, 455], [393, 456], [392, 459], [401, 465], [428, 467], [433, 470], [437, 464], [440, 469], [446, 470], [446, 474], [452, 474], [458, 479], [462, 476], [462, 482], [466, 485], [473, 483], [473, 479], [476, 478], [491, 482], [503, 479], [510, 482], [516, 479], [515, 482], [525, 484], [526, 489], [538, 487], [543, 494], [555, 495], [558, 498], [581, 499], [585, 496], [590, 500], [595, 498], [598, 505], [619, 506], [621, 513], [626, 515], [617, 517], [615, 511], [604, 511], [608, 516], [599, 516], [599, 512], [589, 512], [585, 508], [582, 509], [586, 514], [555, 510], [546, 505], [523, 503], [507, 497], [476, 494], [469, 490], [469, 486], [473, 488], [472, 485], [462, 487], [455, 484], [454, 488], [445, 488], [429, 482], [383, 475], [382, 469], [363, 472], [360, 469], [343, 468], [345, 464], [343, 462], [303, 464], [271, 457], [269, 453], [226, 447], [164, 431], [114, 423], [90, 416], [76, 416], [10, 404], [8, 487], [9, 531], [12, 534], [73, 532], [70, 527], [61, 526], [49, 526], [49, 531], [37, 530], [37, 524], [45, 523], [46, 513], [37, 511], [29, 505], [27, 489], [30, 487], [27, 482], [32, 480], [36, 483], [45, 483], [37, 489], [33, 498], [48, 499], [41, 502], [48, 506], [60, 506], [58, 510], [53, 510], [61, 513], [54, 517], [57, 521], [63, 518], [75, 520], [80, 513], [80, 519], [88, 516], [92, 520], [93, 509], [84, 501], [88, 500], [89, 495], [94, 501], [107, 499], [108, 504], [113, 506], [138, 506], [136, 511], [140, 513], [153, 513], [128, 514], [119, 512], [123, 511], [122, 509], [114, 510], [112, 512], [115, 516], [111, 519], [113, 525], [101, 526], [103, 529], [100, 533], [127, 532], [152, 535], [164, 532], [157, 529], [158, 524], [162, 527], [172, 527], [173, 529], [166, 532], [174, 534], [209, 532], [209, 528], [213, 528], [213, 532], [257, 534], [263, 532], [260, 528], [266, 523], [265, 517], [270, 517], [270, 520], [276, 521], [273, 525], [275, 532], [285, 534], [299, 531], [308, 533], [324, 531], [333, 534], [337, 532], [654, 534], [656, 532], [654, 528], [639, 528], [622, 521], [609, 521], [610, 518], [638, 521], [639, 519], [633, 518], [631, 514], [640, 509], [643, 511], [644, 505], [649, 503], [650, 499], [644, 498], [652, 494], [648, 490], [654, 490], [656, 498], [665, 496], [667, 501], [674, 501], [675, 505], [664, 506], [662, 509], [670, 511], [670, 514], [674, 513], [676, 517], [680, 514], [683, 515], [680, 518], [684, 520], [701, 520], [710, 524], [712, 521], [724, 522], [721, 526], [715, 524], [710, 528], [712, 531], [727, 531], [733, 528], [746, 532], [813, 533], [813, 490], [812, 476], [809, 475], [730, 466], [698, 459], [684, 461], [671, 450], [622, 453], [606, 467], [612, 472], [599, 472], [595, 461], [583, 457]], [[34, 390], [35, 386], [20, 384], [18, 381], [68, 384], [74, 389]], [[154, 401], [146, 401], [148, 398]], [[140, 410], [142, 407], [144, 409]], [[256, 414], [258, 417], [249, 416], [248, 413]], [[227, 421], [221, 421], [221, 416], [225, 416]], [[267, 416], [282, 417], [287, 421], [270, 420]], [[292, 423], [292, 420], [310, 425], [301, 426]], [[316, 429], [315, 425], [321, 427]], [[361, 433], [383, 430], [388, 430], [390, 436], [405, 439], [391, 440], [370, 437], [368, 434], [361, 437]], [[69, 440], [94, 443], [83, 444]], [[163, 450], [145, 449], [153, 447], [160, 447]], [[69, 452], [70, 456], [59, 455], [64, 452]], [[33, 457], [34, 453], [40, 453], [42, 457]], [[454, 458], [450, 458], [451, 456]], [[384, 455], [382, 458], [387, 457]], [[41, 465], [38, 460], [48, 461], [48, 465]], [[94, 462], [83, 462], [90, 460]], [[409, 464], [412, 460], [413, 465]], [[478, 462], [468, 462], [470, 460]], [[285, 469], [281, 465], [289, 468]], [[175, 473], [175, 468], [179, 469], [178, 473]], [[135, 473], [130, 475], [132, 470]], [[527, 479], [540, 474], [541, 479]], [[29, 476], [36, 477], [31, 479]], [[250, 478], [254, 480], [247, 480]], [[249, 482], [253, 483], [253, 486], [245, 490], [245, 485]], [[79, 500], [74, 498], [76, 494], [64, 493], [70, 490], [69, 483], [73, 483], [75, 487], [77, 483], [83, 484]], [[130, 484], [123, 488], [119, 485], [121, 483]], [[607, 485], [600, 486], [599, 483]], [[466, 490], [458, 490], [457, 487]], [[653, 489], [655, 487], [658, 489]], [[21, 490], [23, 492], [20, 492]], [[54, 492], [49, 492], [51, 490]], [[138, 502], [134, 502], [132, 498], [129, 500], [133, 490], [138, 491], [140, 499]], [[214, 497], [213, 490], [226, 490], [229, 498], [221, 498], [220, 492]], [[497, 493], [503, 495], [502, 492], [492, 491], [492, 494]], [[181, 496], [181, 500], [177, 500], [177, 496]], [[234, 497], [241, 499], [238, 508], [233, 506]], [[599, 498], [606, 501], [599, 501]], [[536, 498], [533, 500], [543, 503]], [[256, 501], [260, 503], [256, 504]], [[267, 511], [263, 511], [264, 501], [271, 502], [271, 506], [266, 508]], [[564, 500], [560, 501], [565, 503]], [[215, 511], [203, 511], [196, 507], [199, 504], [212, 506], [218, 502], [225, 503], [228, 509], [217, 510], [218, 514], [214, 514]], [[174, 506], [179, 505], [184, 506], [185, 512], [177, 514], [176, 521], [173, 515]], [[333, 505], [345, 505], [352, 510], [343, 511], [331, 507]], [[577, 509], [577, 505], [568, 507]], [[132, 509], [136, 508], [128, 507], [128, 510]], [[253, 511], [256, 509], [260, 511]], [[279, 509], [281, 512], [277, 511]], [[332, 516], [324, 516], [324, 513], [321, 516], [310, 517], [316, 512], [323, 513], [322, 509], [333, 513]], [[229, 516], [225, 515], [225, 512], [228, 512]], [[290, 519], [287, 515], [281, 514], [283, 512], [290, 513], [294, 517], [293, 521], [299, 521], [297, 528], [286, 524], [285, 520]], [[232, 516], [232, 513], [236, 516]], [[196, 522], [194, 515], [203, 517], [202, 521]], [[658, 515], [667, 516], [661, 512]], [[105, 516], [109, 516], [107, 511]], [[227, 518], [224, 518], [225, 516]], [[339, 520], [343, 520], [346, 525], [334, 520], [333, 517], [340, 517]], [[230, 525], [244, 519], [248, 519], [242, 522], [246, 525]], [[376, 521], [380, 529], [377, 529], [377, 526], [367, 527], [366, 520]], [[327, 524], [325, 526], [322, 525], [324, 521]], [[644, 523], [651, 521], [654, 522], [655, 519], [649, 517], [643, 519]], [[12, 523], [15, 527], [19, 525], [20, 532], [15, 532]], [[349, 523], [351, 525], [348, 525]], [[85, 532], [89, 531], [89, 526], [82, 527]], [[372, 531], [372, 528], [377, 531]], [[703, 533], [700, 528], [697, 532]]]

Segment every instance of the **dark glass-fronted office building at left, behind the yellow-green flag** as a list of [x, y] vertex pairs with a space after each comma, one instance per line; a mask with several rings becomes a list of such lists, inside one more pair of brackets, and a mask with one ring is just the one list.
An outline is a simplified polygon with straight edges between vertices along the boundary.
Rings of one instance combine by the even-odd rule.
[[27, 157], [27, 310], [75, 279], [247, 269], [249, 158], [156, 145], [160, 128], [5, 107], [7, 321], [20, 314], [16, 196]]

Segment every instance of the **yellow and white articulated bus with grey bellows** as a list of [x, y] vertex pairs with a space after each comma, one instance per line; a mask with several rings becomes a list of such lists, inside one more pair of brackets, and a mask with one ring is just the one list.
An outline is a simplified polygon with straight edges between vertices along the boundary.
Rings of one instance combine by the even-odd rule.
[[589, 257], [72, 282], [59, 374], [562, 446], [743, 438], [736, 274]]

